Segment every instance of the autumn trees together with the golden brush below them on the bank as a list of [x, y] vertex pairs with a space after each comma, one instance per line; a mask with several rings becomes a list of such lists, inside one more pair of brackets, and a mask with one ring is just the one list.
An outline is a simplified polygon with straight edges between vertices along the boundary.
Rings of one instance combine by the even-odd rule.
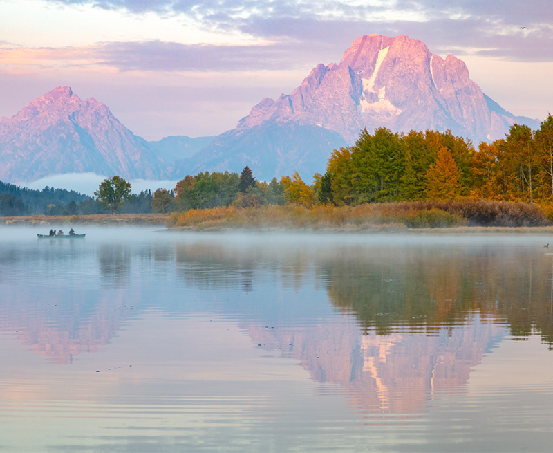
[[255, 181], [245, 167], [240, 176], [186, 176], [175, 193], [170, 227], [547, 225], [553, 118], [537, 131], [514, 124], [504, 139], [482, 142], [478, 151], [451, 131], [364, 130], [355, 145], [332, 152], [325, 174], [310, 185], [297, 173]]

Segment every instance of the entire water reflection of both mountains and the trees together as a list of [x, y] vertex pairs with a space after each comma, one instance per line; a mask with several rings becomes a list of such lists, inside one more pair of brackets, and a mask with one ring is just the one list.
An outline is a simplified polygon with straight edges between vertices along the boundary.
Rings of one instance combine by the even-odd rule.
[[86, 244], [0, 256], [0, 328], [57, 362], [108, 344], [143, 306], [217, 311], [254, 345], [348, 387], [359, 410], [405, 412], [432, 389], [464, 385], [504, 322], [551, 343], [553, 257], [535, 248], [328, 237]]

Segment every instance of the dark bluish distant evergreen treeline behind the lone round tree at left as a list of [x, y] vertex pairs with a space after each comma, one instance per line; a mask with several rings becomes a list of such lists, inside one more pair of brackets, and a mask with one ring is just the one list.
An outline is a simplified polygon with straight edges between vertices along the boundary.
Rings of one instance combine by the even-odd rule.
[[[131, 194], [124, 200], [119, 212], [129, 214], [152, 212], [152, 199], [150, 190]], [[86, 215], [101, 212], [104, 212], [104, 207], [100, 205], [97, 198], [74, 190], [55, 189], [48, 186], [42, 190], [35, 190], [0, 181], [0, 216]]]

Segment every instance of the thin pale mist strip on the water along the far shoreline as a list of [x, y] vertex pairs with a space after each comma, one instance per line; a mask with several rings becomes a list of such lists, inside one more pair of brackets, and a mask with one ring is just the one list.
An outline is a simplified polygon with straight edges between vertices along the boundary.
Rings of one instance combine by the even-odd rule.
[[266, 248], [275, 251], [283, 248], [291, 250], [302, 248], [324, 251], [328, 248], [341, 247], [373, 247], [393, 246], [395, 252], [401, 253], [401, 248], [409, 246], [440, 246], [467, 245], [467, 246], [536, 246], [541, 252], [551, 243], [553, 252], [553, 237], [550, 234], [521, 234], [521, 233], [313, 233], [313, 232], [189, 232], [182, 230], [168, 230], [158, 226], [99, 226], [99, 225], [71, 225], [48, 223], [36, 226], [0, 226], [0, 243], [37, 241], [37, 234], [48, 234], [50, 229], [63, 229], [65, 234], [73, 228], [75, 233], [86, 233], [87, 242], [118, 243], [212, 243], [229, 248]]

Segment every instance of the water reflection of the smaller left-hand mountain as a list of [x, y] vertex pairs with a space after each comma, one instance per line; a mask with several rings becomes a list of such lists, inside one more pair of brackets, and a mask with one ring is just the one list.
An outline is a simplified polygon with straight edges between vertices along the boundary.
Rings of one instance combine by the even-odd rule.
[[122, 288], [128, 249], [83, 241], [3, 248], [0, 329], [53, 362], [71, 363], [79, 353], [99, 351], [140, 299], [140, 288]]

